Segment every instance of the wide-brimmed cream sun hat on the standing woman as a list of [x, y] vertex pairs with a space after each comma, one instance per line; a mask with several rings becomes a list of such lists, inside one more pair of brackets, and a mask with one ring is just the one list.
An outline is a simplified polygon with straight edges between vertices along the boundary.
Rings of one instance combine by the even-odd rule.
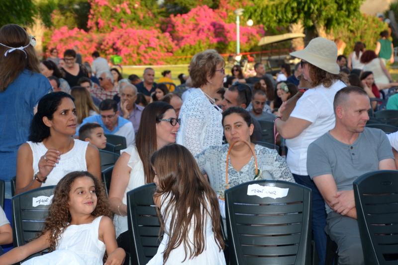
[[337, 65], [337, 45], [325, 38], [312, 39], [304, 50], [296, 51], [290, 55], [303, 59], [327, 72], [338, 74], [340, 67]]

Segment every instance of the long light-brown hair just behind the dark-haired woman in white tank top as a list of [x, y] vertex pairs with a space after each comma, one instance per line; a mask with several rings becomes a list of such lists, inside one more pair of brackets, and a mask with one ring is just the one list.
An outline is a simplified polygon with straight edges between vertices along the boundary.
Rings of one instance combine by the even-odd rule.
[[89, 91], [83, 86], [74, 86], [71, 89], [71, 95], [75, 98], [77, 126], [76, 131], [79, 132], [80, 125], [83, 120], [89, 116], [100, 114], [100, 110], [94, 104]]

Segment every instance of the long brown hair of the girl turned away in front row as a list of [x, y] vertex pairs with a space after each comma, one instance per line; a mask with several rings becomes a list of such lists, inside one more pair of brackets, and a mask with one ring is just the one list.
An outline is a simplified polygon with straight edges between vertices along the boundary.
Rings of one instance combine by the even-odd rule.
[[[164, 195], [161, 202], [164, 213], [161, 224], [169, 235], [163, 253], [163, 264], [170, 253], [183, 245], [185, 258], [198, 257], [206, 248], [206, 216], [210, 216], [214, 240], [221, 251], [224, 248], [220, 230], [218, 199], [209, 182], [200, 173], [194, 156], [184, 146], [169, 144], [151, 156], [151, 165], [156, 170], [159, 191], [155, 196]], [[164, 220], [171, 217], [170, 229], [166, 231]], [[190, 231], [194, 231], [190, 238]], [[183, 261], [183, 262], [184, 262]]]

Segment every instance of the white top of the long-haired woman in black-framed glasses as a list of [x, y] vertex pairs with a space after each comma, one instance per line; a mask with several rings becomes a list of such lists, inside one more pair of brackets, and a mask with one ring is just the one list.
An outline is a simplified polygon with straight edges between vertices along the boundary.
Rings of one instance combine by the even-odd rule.
[[[120, 154], [123, 152], [126, 152], [130, 155], [130, 159], [127, 162], [127, 166], [131, 168], [130, 177], [128, 179], [128, 184], [122, 199], [122, 202], [127, 204], [127, 192], [145, 185], [145, 174], [144, 166], [142, 164], [140, 155], [138, 154], [137, 147], [135, 147], [134, 144], [130, 145], [126, 149], [121, 150]], [[127, 216], [123, 217], [115, 214], [113, 221], [115, 223], [116, 238], [118, 238], [121, 233], [126, 232], [128, 229]]]

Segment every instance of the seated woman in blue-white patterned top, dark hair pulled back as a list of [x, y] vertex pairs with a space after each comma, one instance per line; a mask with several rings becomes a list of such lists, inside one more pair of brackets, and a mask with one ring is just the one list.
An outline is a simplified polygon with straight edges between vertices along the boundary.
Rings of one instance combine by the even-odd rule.
[[[275, 149], [256, 145], [250, 141], [254, 126], [250, 114], [241, 107], [230, 107], [222, 114], [222, 126], [228, 144], [210, 146], [195, 156], [200, 171], [207, 174], [210, 185], [218, 194], [226, 188], [225, 166], [229, 145], [236, 140], [248, 141], [254, 148], [260, 175], [257, 179], [274, 179], [295, 182], [285, 159]], [[228, 187], [234, 187], [255, 178], [255, 163], [250, 147], [236, 143], [228, 159]]]

